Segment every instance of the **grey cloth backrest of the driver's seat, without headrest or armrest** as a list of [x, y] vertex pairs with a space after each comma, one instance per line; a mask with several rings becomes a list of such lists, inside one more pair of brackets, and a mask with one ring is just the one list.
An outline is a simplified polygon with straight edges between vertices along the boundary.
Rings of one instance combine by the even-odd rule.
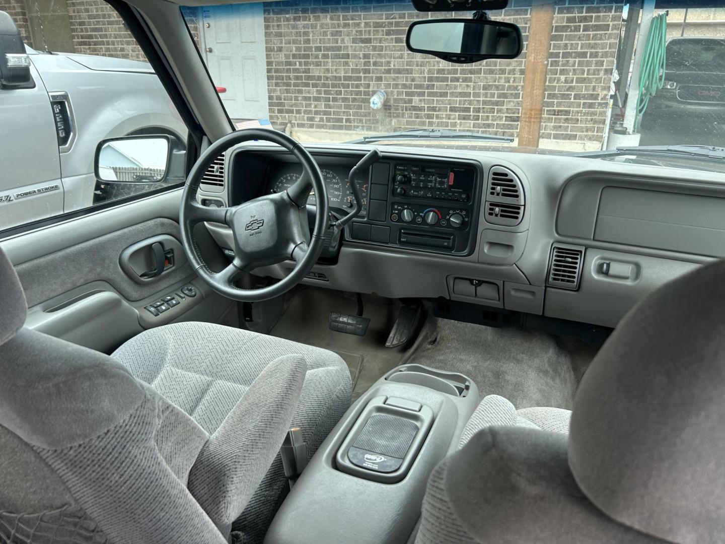
[[[0, 346], [0, 376], [1, 443], [12, 442], [0, 457], [18, 470], [1, 473], [0, 487], [17, 491], [14, 506], [22, 506], [0, 504], [0, 535], [32, 543], [54, 531], [77, 542], [178, 543], [190, 535], [225, 542], [159, 453], [155, 436], [168, 403], [119, 363], [22, 329]], [[54, 474], [47, 482], [19, 479], [41, 464]], [[54, 496], [38, 500], [43, 483]]]

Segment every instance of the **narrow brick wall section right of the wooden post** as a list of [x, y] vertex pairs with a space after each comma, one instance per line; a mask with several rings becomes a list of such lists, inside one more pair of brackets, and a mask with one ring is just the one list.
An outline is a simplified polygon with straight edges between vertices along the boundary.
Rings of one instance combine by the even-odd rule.
[[555, 8], [542, 139], [602, 141], [604, 136], [622, 4], [583, 4], [569, 0]]

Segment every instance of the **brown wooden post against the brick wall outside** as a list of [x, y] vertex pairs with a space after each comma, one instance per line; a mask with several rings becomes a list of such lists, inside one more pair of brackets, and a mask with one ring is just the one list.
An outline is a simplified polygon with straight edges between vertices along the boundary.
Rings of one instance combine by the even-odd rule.
[[518, 128], [518, 145], [521, 147], [539, 147], [544, 86], [554, 22], [553, 0], [534, 0], [533, 4]]

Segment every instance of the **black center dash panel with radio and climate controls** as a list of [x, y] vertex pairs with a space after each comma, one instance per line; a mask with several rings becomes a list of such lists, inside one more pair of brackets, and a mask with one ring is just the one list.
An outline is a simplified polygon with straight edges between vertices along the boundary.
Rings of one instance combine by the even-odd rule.
[[475, 245], [476, 180], [468, 162], [378, 162], [370, 173], [370, 213], [347, 238], [426, 252], [470, 255]]

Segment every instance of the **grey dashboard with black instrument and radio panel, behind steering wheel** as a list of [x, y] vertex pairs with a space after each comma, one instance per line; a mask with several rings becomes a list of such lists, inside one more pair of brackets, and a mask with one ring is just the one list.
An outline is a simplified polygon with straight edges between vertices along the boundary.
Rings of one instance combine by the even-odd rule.
[[[306, 147], [331, 213], [346, 215], [347, 176], [370, 147]], [[378, 149], [382, 160], [355, 180], [363, 213], [303, 283], [460, 302], [476, 319], [515, 312], [614, 327], [669, 279], [725, 257], [720, 173], [556, 154]], [[220, 160], [223, 186], [202, 181], [199, 196], [223, 205], [282, 191], [301, 173], [289, 153], [261, 143]], [[228, 228], [207, 228], [233, 247]], [[292, 267], [254, 273], [282, 278]]]

